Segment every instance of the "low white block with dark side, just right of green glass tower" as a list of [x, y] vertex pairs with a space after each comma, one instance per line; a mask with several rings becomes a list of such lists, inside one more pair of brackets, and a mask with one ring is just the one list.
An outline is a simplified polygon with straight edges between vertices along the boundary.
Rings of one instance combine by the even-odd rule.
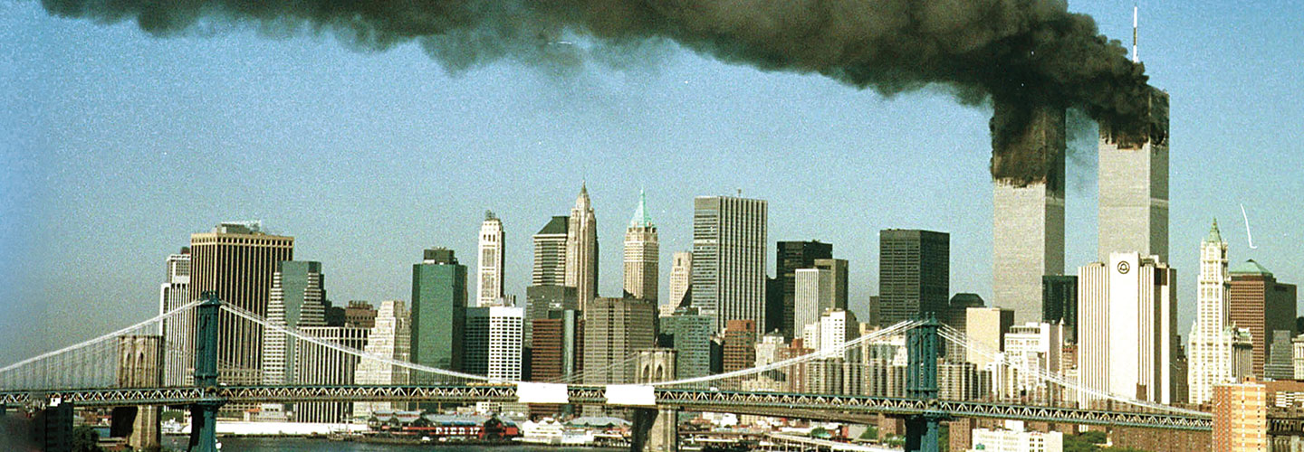
[[497, 380], [520, 380], [524, 319], [522, 307], [468, 307], [462, 369]]

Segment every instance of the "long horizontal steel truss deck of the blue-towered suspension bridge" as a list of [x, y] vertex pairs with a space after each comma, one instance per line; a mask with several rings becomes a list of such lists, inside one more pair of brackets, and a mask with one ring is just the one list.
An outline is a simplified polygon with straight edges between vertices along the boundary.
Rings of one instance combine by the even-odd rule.
[[[605, 388], [567, 387], [571, 404], [605, 404]], [[113, 388], [60, 391], [3, 391], [5, 406], [42, 405], [51, 397], [76, 406], [188, 405], [222, 403], [305, 401], [422, 401], [475, 403], [518, 401], [515, 386], [220, 386], [213, 388]], [[866, 422], [871, 414], [939, 414], [960, 418], [994, 418], [1076, 425], [1132, 426], [1209, 431], [1213, 417], [1178, 413], [1085, 410], [982, 401], [913, 400], [876, 396], [838, 396], [758, 391], [656, 389], [659, 406], [692, 412], [760, 414], [812, 421]], [[1304, 432], [1299, 419], [1270, 419], [1270, 430]]]

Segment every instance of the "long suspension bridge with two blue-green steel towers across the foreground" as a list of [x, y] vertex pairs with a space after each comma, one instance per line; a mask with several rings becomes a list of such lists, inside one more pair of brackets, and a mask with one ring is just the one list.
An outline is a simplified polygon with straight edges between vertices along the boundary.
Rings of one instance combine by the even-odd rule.
[[[185, 319], [193, 336], [168, 343], [163, 324]], [[287, 346], [316, 346], [352, 362], [390, 366], [403, 383], [357, 384], [219, 382], [232, 363], [218, 360], [219, 322], [243, 322]], [[269, 337], [270, 337], [269, 336]], [[155, 337], [154, 340], [146, 340]], [[184, 383], [164, 375], [159, 358], [138, 350], [149, 343], [193, 363]], [[215, 422], [228, 405], [313, 403], [399, 404], [572, 404], [619, 409], [634, 417], [634, 448], [661, 438], [659, 448], [674, 449], [678, 412], [720, 412], [811, 421], [867, 422], [871, 417], [905, 419], [906, 451], [938, 451], [940, 423], [956, 418], [1018, 419], [1071, 425], [1132, 426], [1209, 431], [1209, 413], [1136, 400], [1082, 387], [1039, 365], [1011, 363], [960, 331], [935, 319], [901, 322], [867, 335], [823, 344], [814, 350], [762, 366], [675, 379], [664, 371], [642, 371], [634, 357], [613, 360], [556, 382], [515, 382], [368, 354], [339, 341], [316, 337], [223, 304], [215, 294], [153, 319], [0, 367], [0, 405], [29, 410], [51, 406], [176, 406], [190, 412], [190, 449], [215, 451]], [[988, 366], [1017, 366], [1018, 383], [983, 383], [977, 370], [951, 353], [977, 353]], [[613, 371], [618, 369], [619, 371]], [[146, 375], [141, 375], [143, 374]], [[630, 375], [632, 378], [629, 378]], [[626, 378], [618, 378], [626, 376]], [[1009, 391], [1011, 387], [1016, 387]], [[69, 421], [70, 422], [70, 421]], [[154, 419], [153, 422], [156, 422]], [[1281, 425], [1278, 425], [1281, 423]], [[69, 426], [70, 427], [70, 426]], [[1299, 422], [1275, 422], [1296, 429]], [[665, 443], [669, 442], [669, 445]]]

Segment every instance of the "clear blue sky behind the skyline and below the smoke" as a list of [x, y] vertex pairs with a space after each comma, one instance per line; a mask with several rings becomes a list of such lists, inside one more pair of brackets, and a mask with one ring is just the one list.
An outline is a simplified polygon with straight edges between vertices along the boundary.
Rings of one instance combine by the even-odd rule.
[[[1069, 4], [1114, 38], [1131, 35], [1131, 7]], [[1171, 94], [1184, 336], [1213, 218], [1234, 262], [1304, 281], [1299, 17], [1292, 1], [1142, 5], [1141, 56]], [[672, 46], [570, 76], [512, 63], [450, 74], [415, 44], [360, 52], [248, 27], [160, 39], [37, 1], [0, 4], [0, 365], [151, 317], [163, 259], [223, 220], [295, 236], [343, 304], [407, 300], [428, 246], [473, 267], [493, 210], [523, 301], [529, 236], [569, 214], [584, 180], [602, 294], [619, 294], [644, 188], [662, 293], [670, 254], [691, 245], [692, 197], [742, 190], [769, 201], [769, 271], [777, 240], [832, 242], [853, 309], [878, 293], [883, 228], [949, 232], [951, 290], [991, 298], [990, 109], [938, 90], [884, 99]], [[1094, 138], [1073, 147], [1071, 274], [1095, 259], [1097, 223]]]

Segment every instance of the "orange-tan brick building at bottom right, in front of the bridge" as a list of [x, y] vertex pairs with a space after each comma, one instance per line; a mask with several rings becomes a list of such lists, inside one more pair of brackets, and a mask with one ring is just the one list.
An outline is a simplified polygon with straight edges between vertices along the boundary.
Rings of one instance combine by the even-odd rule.
[[1219, 452], [1262, 452], [1267, 443], [1267, 391], [1247, 379], [1214, 386], [1214, 440]]

